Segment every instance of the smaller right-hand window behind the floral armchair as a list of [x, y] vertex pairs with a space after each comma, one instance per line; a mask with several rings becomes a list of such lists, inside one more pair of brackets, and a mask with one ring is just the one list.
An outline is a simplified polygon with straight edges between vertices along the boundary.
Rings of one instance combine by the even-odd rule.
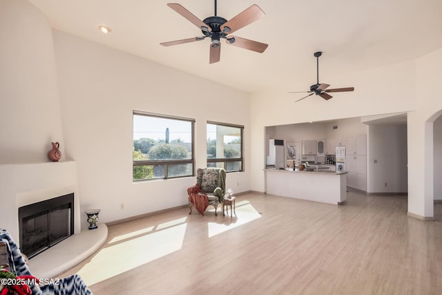
[[242, 132], [244, 126], [207, 122], [207, 166], [227, 172], [243, 171]]

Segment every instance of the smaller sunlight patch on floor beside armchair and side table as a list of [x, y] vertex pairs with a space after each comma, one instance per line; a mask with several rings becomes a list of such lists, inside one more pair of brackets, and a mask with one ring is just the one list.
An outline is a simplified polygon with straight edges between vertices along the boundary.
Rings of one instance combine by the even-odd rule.
[[[230, 210], [229, 213], [231, 213]], [[216, 222], [208, 223], [207, 228], [209, 231], [209, 238], [216, 236], [218, 234], [222, 234], [223, 232], [228, 231], [230, 229], [234, 229], [236, 227], [244, 225], [247, 222], [251, 222], [260, 217], [261, 217], [260, 213], [256, 211], [256, 209], [250, 204], [249, 201], [244, 200], [241, 202], [236, 202], [236, 216], [235, 214], [233, 214], [233, 218], [231, 218], [230, 216], [224, 216], [224, 218], [229, 218], [229, 220], [227, 220], [227, 222], [224, 222], [222, 224]], [[230, 220], [231, 222], [229, 222]]]

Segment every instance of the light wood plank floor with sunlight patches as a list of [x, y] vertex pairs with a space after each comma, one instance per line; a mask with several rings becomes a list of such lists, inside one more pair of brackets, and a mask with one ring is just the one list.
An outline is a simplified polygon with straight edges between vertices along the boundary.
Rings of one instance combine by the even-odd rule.
[[337, 206], [249, 193], [236, 215], [177, 209], [113, 225], [60, 277], [79, 273], [95, 295], [442, 294], [441, 203], [422, 221], [406, 196], [349, 191]]

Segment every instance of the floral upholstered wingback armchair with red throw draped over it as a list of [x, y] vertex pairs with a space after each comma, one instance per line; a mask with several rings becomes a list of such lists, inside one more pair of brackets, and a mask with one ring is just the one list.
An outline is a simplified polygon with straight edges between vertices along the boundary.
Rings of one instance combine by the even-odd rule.
[[215, 216], [218, 204], [222, 202], [226, 191], [226, 171], [222, 168], [198, 168], [196, 172], [196, 184], [187, 189], [189, 196], [189, 214], [195, 206], [201, 215], [212, 205], [215, 208]]

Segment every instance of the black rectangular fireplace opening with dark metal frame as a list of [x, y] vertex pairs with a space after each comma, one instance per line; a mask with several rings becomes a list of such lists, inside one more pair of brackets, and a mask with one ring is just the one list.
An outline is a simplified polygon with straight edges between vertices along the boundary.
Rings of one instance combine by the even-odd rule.
[[74, 193], [19, 208], [20, 249], [28, 258], [74, 234]]

